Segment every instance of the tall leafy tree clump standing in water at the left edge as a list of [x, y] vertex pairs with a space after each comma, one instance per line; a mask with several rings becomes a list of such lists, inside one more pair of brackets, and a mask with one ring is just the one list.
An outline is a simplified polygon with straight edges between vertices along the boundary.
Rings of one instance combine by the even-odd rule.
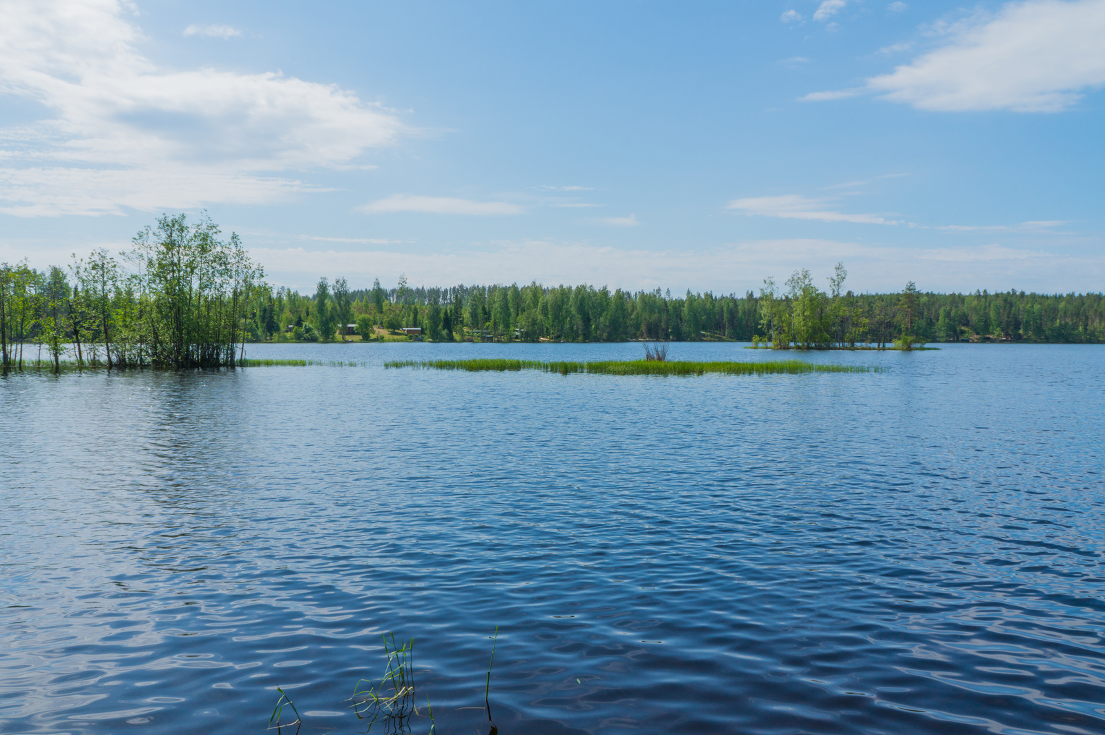
[[[123, 263], [97, 249], [45, 271], [0, 264], [0, 360], [4, 370], [61, 366], [215, 368], [255, 335], [252, 305], [272, 289], [238, 235], [219, 239], [208, 219], [158, 220], [134, 238]], [[38, 345], [36, 353], [27, 352]]]

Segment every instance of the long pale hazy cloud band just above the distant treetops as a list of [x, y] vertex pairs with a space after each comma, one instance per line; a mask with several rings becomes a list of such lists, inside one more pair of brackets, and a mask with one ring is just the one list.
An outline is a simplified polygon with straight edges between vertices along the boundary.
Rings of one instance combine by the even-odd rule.
[[[1096, 247], [1061, 255], [1040, 247], [993, 244], [924, 248], [813, 238], [680, 251], [527, 239], [451, 253], [316, 252], [294, 247], [251, 248], [250, 253], [264, 265], [272, 283], [311, 290], [320, 275], [344, 275], [350, 286], [360, 287], [376, 277], [393, 284], [399, 274], [406, 273], [410, 283], [427, 286], [528, 284], [536, 279], [546, 285], [588, 283], [628, 289], [670, 287], [673, 292], [692, 288], [744, 294], [757, 289], [767, 276], [783, 279], [796, 268], [810, 268], [818, 278], [828, 277], [839, 260], [848, 267], [846, 287], [856, 291], [897, 290], [907, 280], [915, 280], [924, 290], [937, 291], [1013, 286], [1038, 291], [1096, 291], [1105, 277]], [[958, 267], [965, 263], [985, 265]], [[1072, 280], [1071, 274], [1077, 277]]]

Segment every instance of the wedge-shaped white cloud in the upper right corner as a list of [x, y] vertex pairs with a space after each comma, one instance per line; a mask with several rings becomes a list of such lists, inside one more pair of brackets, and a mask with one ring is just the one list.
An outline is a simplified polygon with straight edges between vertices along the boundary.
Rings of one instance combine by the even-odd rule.
[[941, 49], [867, 81], [919, 109], [1056, 113], [1105, 84], [1105, 0], [1029, 0], [954, 26]]

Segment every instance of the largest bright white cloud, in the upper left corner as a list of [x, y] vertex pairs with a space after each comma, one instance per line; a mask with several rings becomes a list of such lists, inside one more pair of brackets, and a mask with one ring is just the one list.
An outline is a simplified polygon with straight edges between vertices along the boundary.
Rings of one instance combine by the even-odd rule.
[[49, 119], [0, 130], [0, 211], [118, 214], [270, 203], [312, 188], [273, 173], [340, 167], [403, 130], [335, 85], [276, 73], [167, 71], [120, 0], [7, 0], [0, 93]]

